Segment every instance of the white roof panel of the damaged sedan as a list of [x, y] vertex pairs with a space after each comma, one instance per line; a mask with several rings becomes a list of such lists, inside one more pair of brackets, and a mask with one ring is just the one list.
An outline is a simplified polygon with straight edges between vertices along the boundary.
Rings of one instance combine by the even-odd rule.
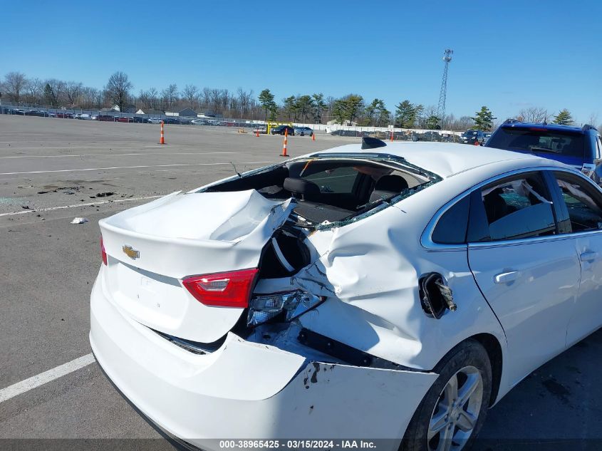
[[[362, 150], [361, 145], [349, 144], [332, 149], [323, 150], [313, 155], [328, 155], [331, 153], [353, 153], [353, 154], [389, 154], [403, 157], [412, 165], [441, 177], [447, 178], [460, 172], [472, 170], [484, 165], [492, 165], [492, 172], [504, 172], [504, 163], [519, 161], [529, 166], [564, 166], [535, 155], [501, 150], [494, 147], [482, 147], [480, 145], [456, 144], [454, 142], [388, 142], [385, 147]], [[515, 166], [515, 165], [506, 165]]]

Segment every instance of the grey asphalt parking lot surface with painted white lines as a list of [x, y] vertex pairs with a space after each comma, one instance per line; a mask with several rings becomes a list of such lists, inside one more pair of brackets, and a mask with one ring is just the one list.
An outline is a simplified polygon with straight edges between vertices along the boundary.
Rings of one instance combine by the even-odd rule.
[[[289, 153], [359, 141], [316, 138], [289, 137]], [[159, 125], [0, 115], [0, 390], [90, 353], [98, 219], [282, 159], [281, 137], [234, 128], [166, 125], [165, 140]], [[517, 385], [481, 437], [602, 439], [601, 364], [598, 331]], [[0, 398], [0, 439], [158, 437], [95, 363]]]

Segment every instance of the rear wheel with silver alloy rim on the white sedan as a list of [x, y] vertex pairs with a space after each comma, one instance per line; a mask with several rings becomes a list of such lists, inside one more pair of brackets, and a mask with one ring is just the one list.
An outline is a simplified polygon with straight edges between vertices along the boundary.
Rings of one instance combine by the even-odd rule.
[[487, 351], [474, 340], [460, 343], [433, 370], [439, 374], [416, 409], [403, 451], [467, 450], [487, 415], [492, 387]]

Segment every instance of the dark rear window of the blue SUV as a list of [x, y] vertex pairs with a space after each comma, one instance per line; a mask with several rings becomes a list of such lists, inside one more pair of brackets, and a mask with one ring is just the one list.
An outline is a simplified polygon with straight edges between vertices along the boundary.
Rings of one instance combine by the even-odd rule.
[[487, 146], [520, 152], [547, 152], [583, 157], [584, 140], [581, 133], [570, 131], [501, 127], [489, 138]]

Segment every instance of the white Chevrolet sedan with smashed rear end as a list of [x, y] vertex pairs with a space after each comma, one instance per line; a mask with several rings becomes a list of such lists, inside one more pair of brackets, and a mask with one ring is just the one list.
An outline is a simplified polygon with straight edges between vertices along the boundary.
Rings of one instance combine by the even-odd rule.
[[187, 445], [459, 450], [601, 326], [601, 227], [561, 163], [365, 138], [101, 220], [90, 343]]

